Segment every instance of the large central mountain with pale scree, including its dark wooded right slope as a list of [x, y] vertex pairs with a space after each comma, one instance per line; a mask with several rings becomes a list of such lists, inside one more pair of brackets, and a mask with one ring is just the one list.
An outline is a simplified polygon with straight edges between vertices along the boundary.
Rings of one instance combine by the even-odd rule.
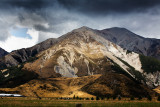
[[[63, 35], [37, 57], [34, 62], [26, 63], [23, 69], [34, 71], [41, 78], [117, 72], [150, 87], [160, 84], [159, 61], [125, 50], [104, 38], [101, 32], [87, 27]], [[145, 63], [146, 59], [152, 62], [155, 69], [146, 68], [150, 64]]]

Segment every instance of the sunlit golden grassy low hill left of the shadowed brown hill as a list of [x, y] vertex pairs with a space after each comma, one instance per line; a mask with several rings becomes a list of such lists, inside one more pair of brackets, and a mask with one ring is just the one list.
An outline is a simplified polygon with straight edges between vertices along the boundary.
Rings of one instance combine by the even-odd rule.
[[15, 88], [0, 88], [0, 92], [19, 93], [29, 97], [73, 97], [74, 95], [92, 97], [81, 88], [99, 77], [100, 75], [81, 78], [34, 79]]

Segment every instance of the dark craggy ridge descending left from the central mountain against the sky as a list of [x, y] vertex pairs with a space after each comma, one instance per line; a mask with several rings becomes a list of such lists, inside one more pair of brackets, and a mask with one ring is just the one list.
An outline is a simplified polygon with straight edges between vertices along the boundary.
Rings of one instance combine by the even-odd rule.
[[41, 42], [30, 48], [23, 48], [20, 50], [15, 50], [6, 55], [4, 58], [0, 59], [0, 67], [11, 67], [21, 64], [27, 61], [29, 58], [34, 57], [36, 54], [40, 53], [43, 50], [50, 48], [54, 43], [56, 43], [56, 39], [47, 39], [44, 42]]

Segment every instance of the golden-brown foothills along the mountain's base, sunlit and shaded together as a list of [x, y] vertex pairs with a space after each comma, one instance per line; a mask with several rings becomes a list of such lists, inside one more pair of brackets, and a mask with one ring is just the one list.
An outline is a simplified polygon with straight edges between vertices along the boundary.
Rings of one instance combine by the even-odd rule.
[[147, 97], [155, 96], [151, 89], [122, 74], [107, 73], [74, 78], [35, 79], [15, 88], [0, 88], [3, 93], [19, 93], [29, 97]]

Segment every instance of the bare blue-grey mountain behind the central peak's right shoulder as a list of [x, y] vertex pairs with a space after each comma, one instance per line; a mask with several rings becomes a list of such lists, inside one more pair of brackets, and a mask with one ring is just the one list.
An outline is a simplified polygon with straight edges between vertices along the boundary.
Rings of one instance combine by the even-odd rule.
[[124, 49], [160, 60], [160, 39], [144, 38], [125, 28], [118, 27], [99, 32], [104, 38]]

